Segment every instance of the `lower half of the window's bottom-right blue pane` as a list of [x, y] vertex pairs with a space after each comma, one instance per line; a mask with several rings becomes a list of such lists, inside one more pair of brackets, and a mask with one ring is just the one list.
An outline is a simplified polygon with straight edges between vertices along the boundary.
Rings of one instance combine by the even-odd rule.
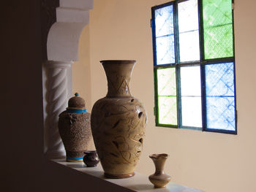
[[234, 97], [206, 97], [207, 128], [236, 131]]

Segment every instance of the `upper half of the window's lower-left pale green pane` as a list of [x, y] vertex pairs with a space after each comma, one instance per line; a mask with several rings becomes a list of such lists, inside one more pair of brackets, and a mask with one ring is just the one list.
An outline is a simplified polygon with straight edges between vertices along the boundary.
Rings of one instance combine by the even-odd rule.
[[176, 96], [176, 69], [157, 69], [158, 96]]

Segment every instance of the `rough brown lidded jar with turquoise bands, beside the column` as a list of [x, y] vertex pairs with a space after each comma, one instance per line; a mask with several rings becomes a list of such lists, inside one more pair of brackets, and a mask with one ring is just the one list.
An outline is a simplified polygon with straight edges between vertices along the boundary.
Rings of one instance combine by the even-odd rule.
[[67, 110], [59, 115], [58, 126], [67, 161], [83, 161], [92, 137], [91, 114], [86, 111], [86, 102], [78, 93], [69, 99]]

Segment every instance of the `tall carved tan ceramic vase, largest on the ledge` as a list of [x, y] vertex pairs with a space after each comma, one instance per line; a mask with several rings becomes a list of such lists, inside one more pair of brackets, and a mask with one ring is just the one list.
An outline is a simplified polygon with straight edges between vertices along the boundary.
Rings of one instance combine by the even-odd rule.
[[132, 177], [145, 136], [146, 110], [129, 91], [135, 61], [100, 61], [108, 94], [91, 111], [91, 131], [105, 177]]

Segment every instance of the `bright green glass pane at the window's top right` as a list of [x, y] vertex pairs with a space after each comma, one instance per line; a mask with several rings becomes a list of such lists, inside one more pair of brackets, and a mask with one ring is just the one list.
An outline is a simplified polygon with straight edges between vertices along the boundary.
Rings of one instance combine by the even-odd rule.
[[203, 0], [205, 59], [233, 57], [231, 0]]

